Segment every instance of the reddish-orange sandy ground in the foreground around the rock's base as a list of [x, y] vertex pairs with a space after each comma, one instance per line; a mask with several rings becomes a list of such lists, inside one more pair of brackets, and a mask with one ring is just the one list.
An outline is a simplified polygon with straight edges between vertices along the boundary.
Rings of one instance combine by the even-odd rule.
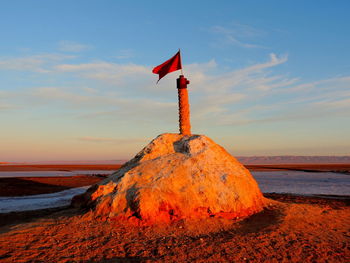
[[[45, 180], [34, 183], [73, 187]], [[249, 218], [168, 226], [72, 208], [2, 214], [0, 262], [350, 262], [349, 197], [265, 196], [276, 201]]]

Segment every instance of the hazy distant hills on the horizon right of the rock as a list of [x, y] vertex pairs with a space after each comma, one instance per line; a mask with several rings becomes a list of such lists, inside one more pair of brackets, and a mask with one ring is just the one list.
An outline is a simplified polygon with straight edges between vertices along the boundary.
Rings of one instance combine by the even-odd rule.
[[350, 163], [350, 156], [239, 156], [243, 164]]

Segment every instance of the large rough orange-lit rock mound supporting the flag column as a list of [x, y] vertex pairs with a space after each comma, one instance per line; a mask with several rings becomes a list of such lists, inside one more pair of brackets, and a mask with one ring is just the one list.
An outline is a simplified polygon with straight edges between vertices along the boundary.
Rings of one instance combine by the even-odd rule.
[[242, 217], [265, 205], [250, 172], [203, 135], [162, 134], [73, 203], [145, 222]]

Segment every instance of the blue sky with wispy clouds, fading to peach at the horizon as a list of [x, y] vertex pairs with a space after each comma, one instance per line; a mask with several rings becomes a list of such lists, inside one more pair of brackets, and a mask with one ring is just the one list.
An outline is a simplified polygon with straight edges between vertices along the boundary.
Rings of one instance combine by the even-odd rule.
[[349, 155], [348, 1], [2, 1], [0, 161], [128, 159], [177, 132], [234, 155]]

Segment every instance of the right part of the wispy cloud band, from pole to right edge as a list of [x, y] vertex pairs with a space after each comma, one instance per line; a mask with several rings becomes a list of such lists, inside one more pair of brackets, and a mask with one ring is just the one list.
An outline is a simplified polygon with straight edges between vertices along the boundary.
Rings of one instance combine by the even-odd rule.
[[202, 95], [191, 98], [193, 120], [232, 126], [350, 116], [349, 77], [307, 83], [273, 74], [271, 68], [287, 61], [287, 55], [270, 54], [268, 61], [242, 69], [209, 70], [196, 83]]

